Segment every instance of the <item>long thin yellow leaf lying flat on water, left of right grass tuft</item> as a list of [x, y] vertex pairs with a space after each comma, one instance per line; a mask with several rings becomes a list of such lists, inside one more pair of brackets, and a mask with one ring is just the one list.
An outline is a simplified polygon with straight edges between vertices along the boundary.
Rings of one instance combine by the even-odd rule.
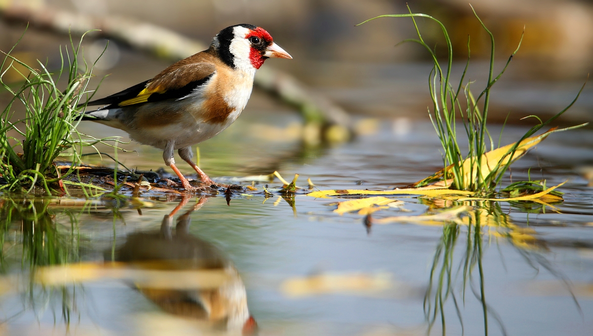
[[451, 190], [447, 187], [403, 188], [393, 190], [320, 190], [308, 193], [311, 197], [327, 197], [340, 195], [423, 195], [429, 197], [443, 195], [473, 195], [471, 191]]

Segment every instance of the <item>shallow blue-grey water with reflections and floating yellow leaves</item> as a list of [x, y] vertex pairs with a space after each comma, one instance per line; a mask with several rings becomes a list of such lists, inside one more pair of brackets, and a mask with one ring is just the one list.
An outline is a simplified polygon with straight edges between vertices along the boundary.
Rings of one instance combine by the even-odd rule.
[[[229, 177], [278, 170], [289, 180], [298, 173], [298, 185], [306, 187], [310, 177], [321, 189], [391, 188], [439, 169], [439, 143], [429, 123], [379, 120], [353, 142], [305, 148], [291, 136], [294, 121], [288, 114], [238, 120], [200, 145], [202, 168]], [[258, 132], [261, 127], [267, 132]], [[507, 127], [502, 142], [522, 132]], [[120, 155], [124, 164], [161, 167], [160, 152], [134, 148], [139, 156]], [[532, 167], [531, 178], [546, 178], [548, 185], [568, 180], [561, 188], [565, 201], [554, 204], [561, 213], [541, 204], [492, 206], [498, 222], [482, 222], [480, 239], [467, 225], [366, 228], [362, 215], [334, 213], [336, 199], [303, 193], [283, 199], [247, 191], [228, 204], [222, 194], [201, 201], [151, 194], [141, 210], [138, 202], [109, 199], [5, 200], [2, 331], [248, 334], [252, 316], [260, 335], [424, 335], [429, 329], [436, 335], [442, 320], [449, 335], [482, 335], [486, 306], [490, 335], [588, 335], [593, 196], [581, 171], [591, 165], [591, 130], [551, 135], [515, 164], [512, 179], [525, 180]], [[262, 190], [262, 184], [255, 186]], [[269, 183], [274, 192], [278, 187], [278, 180]], [[444, 205], [391, 198], [404, 201], [403, 209], [381, 210], [375, 219]], [[437, 255], [450, 251], [444, 242], [453, 238], [449, 257]], [[466, 258], [473, 267], [463, 292]], [[450, 265], [450, 284], [439, 287], [435, 276], [430, 287], [435, 260], [435, 274], [447, 270], [442, 261]], [[51, 271], [43, 266], [79, 262], [85, 268], [31, 275]], [[444, 314], [433, 315], [436, 293], [447, 289]]]

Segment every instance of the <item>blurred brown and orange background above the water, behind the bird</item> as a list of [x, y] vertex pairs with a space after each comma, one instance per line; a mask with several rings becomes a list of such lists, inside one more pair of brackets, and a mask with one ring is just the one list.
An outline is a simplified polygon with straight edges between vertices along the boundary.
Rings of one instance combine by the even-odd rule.
[[[4, 0], [3, 7], [26, 4], [78, 12], [94, 17], [117, 16], [160, 25], [184, 36], [209, 43], [222, 28], [237, 23], [260, 25], [294, 56], [291, 62], [269, 60], [273, 66], [296, 76], [315, 91], [355, 115], [374, 117], [427, 117], [429, 104], [428, 54], [412, 44], [395, 46], [415, 36], [409, 18], [381, 18], [355, 27], [381, 14], [405, 13], [400, 0]], [[467, 1], [407, 1], [413, 12], [441, 20], [451, 34], [455, 57], [463, 69], [467, 40], [471, 36], [468, 79], [482, 87], [490, 44]], [[508, 72], [496, 85], [492, 118], [509, 122], [538, 113], [556, 113], [568, 104], [593, 68], [593, 2], [576, 0], [475, 0], [471, 5], [496, 39], [496, 69], [525, 36]], [[445, 55], [445, 44], [436, 24], [419, 20], [428, 44]], [[64, 26], [76, 23], [63, 22]], [[0, 49], [8, 50], [23, 33], [22, 22], [0, 23]], [[56, 44], [63, 36], [31, 29], [15, 56], [55, 60]], [[106, 43], [87, 41], [88, 55], [96, 57]], [[52, 57], [53, 56], [53, 57]], [[91, 57], [92, 58], [92, 57]], [[151, 78], [170, 62], [158, 60], [111, 43], [101, 60], [98, 76], [113, 73], [99, 96]], [[256, 92], [248, 110], [290, 110]], [[585, 94], [563, 117], [564, 121], [589, 121], [593, 97]]]

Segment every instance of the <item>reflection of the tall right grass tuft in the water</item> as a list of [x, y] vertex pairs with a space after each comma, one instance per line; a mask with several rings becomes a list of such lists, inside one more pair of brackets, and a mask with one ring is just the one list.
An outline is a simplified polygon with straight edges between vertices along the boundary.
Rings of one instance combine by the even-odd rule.
[[[441, 206], [451, 206], [451, 204], [440, 204], [433, 200], [423, 200], [423, 203], [427, 203], [431, 211]], [[473, 202], [471, 205], [473, 207], [468, 207], [467, 209], [470, 210], [463, 216], [444, 223], [441, 239], [435, 249], [429, 285], [424, 298], [429, 334], [436, 322], [441, 322], [442, 335], [447, 333], [448, 319], [445, 316], [445, 303], [449, 299], [453, 302], [463, 333], [464, 322], [461, 309], [466, 303], [466, 293], [470, 290], [482, 306], [484, 335], [489, 334], [489, 322], [492, 319], [500, 328], [500, 332], [506, 335], [502, 319], [487, 304], [484, 293], [486, 284], [483, 271], [484, 242], [490, 241], [491, 238], [505, 239], [517, 248], [529, 267], [539, 271], [541, 266], [562, 281], [580, 310], [568, 279], [560, 271], [555, 270], [541, 254], [541, 251], [546, 250], [545, 244], [537, 238], [537, 232], [534, 229], [528, 225], [524, 227], [512, 223], [509, 216], [503, 213], [499, 203]], [[456, 252], [455, 248], [462, 235], [466, 236], [465, 247], [463, 251]]]

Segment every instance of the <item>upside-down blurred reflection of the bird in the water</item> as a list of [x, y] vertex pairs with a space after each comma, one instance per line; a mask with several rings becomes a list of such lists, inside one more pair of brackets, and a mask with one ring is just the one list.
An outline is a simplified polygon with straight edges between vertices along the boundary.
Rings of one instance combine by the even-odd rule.
[[[165, 312], [204, 321], [211, 328], [232, 334], [255, 335], [257, 324], [249, 314], [245, 286], [234, 265], [214, 245], [189, 232], [190, 215], [206, 200], [203, 197], [179, 216], [173, 229], [173, 216], [189, 201], [189, 197], [184, 197], [170, 214], [164, 216], [160, 231], [128, 235], [125, 245], [117, 251], [116, 259], [142, 270], [223, 274], [224, 280], [215, 281], [215, 284], [196, 276], [190, 278], [189, 284], [188, 281], [180, 284], [178, 279], [171, 279], [173, 281], [158, 286], [136, 284], [136, 288]], [[167, 286], [169, 282], [171, 286]]]

